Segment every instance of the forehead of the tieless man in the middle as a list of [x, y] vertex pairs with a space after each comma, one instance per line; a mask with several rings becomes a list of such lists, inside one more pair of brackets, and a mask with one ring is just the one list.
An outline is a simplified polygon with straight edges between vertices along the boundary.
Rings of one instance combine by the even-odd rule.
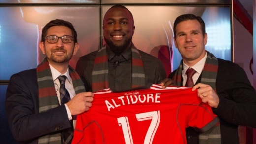
[[133, 21], [131, 14], [129, 11], [125, 8], [116, 7], [111, 8], [107, 11], [107, 13], [104, 16], [104, 21], [110, 20], [110, 19], [127, 19], [129, 21]]

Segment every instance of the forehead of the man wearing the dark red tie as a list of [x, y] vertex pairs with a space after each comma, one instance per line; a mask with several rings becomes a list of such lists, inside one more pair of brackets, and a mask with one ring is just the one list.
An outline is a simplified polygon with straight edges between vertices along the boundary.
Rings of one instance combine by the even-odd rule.
[[176, 31], [202, 31], [201, 25], [197, 20], [186, 20], [177, 24]]

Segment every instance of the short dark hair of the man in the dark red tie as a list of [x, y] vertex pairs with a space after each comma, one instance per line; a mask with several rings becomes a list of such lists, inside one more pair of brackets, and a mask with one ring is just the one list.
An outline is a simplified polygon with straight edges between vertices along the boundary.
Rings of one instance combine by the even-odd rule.
[[187, 21], [187, 20], [197, 20], [201, 25], [201, 30], [202, 30], [203, 37], [204, 37], [206, 32], [205, 32], [205, 23], [204, 23], [203, 19], [201, 17], [195, 16], [193, 14], [183, 14], [183, 15], [178, 16], [176, 18], [176, 20], [174, 21], [174, 24], [173, 24], [174, 38], [176, 38], [176, 27], [177, 27], [177, 25], [180, 22]]

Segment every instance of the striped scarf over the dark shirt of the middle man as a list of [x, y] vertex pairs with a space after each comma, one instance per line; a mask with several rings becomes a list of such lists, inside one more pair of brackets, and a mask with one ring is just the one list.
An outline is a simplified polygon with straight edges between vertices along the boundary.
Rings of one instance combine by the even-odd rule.
[[[132, 58], [132, 88], [145, 86], [145, 73], [141, 56], [137, 48], [132, 44], [131, 46]], [[92, 91], [98, 91], [109, 88], [108, 84], [108, 57], [107, 49], [104, 46], [100, 49], [94, 60], [94, 67], [92, 72]]]

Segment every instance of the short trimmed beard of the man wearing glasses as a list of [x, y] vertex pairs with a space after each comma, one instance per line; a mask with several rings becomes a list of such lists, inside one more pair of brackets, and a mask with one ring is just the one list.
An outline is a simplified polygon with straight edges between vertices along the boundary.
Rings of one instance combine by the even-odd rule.
[[[64, 49], [63, 48], [58, 48], [58, 49], [55, 49], [55, 50], [64, 50]], [[45, 50], [45, 52], [46, 52], [46, 50]], [[50, 52], [46, 52], [45, 57], [48, 60], [56, 62], [56, 63], [64, 63], [64, 62], [69, 62], [69, 60], [73, 56], [73, 53], [74, 53], [74, 49], [70, 53], [67, 53], [67, 55], [64, 58], [58, 58], [58, 57], [52, 55], [53, 54], [53, 50], [51, 50]]]

